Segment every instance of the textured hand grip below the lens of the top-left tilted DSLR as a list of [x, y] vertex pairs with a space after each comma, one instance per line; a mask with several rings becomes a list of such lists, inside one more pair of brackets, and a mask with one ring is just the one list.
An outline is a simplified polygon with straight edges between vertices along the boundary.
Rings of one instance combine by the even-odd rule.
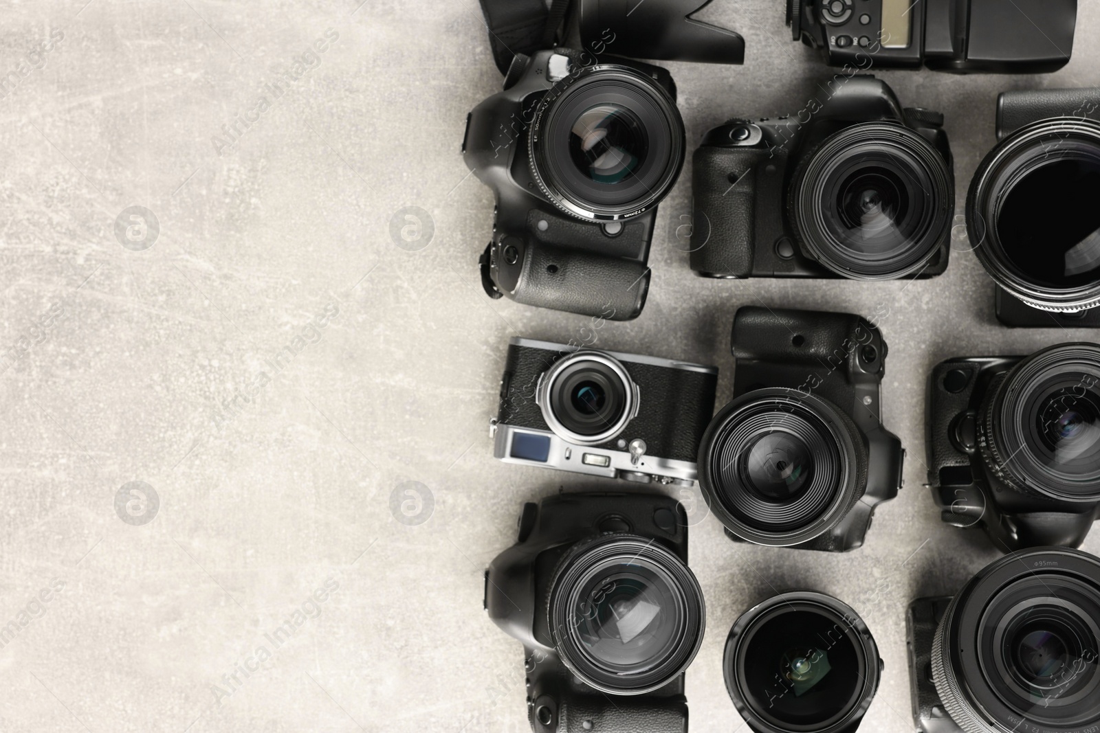
[[629, 321], [641, 313], [648, 291], [649, 268], [644, 263], [540, 243], [527, 247], [515, 300]]

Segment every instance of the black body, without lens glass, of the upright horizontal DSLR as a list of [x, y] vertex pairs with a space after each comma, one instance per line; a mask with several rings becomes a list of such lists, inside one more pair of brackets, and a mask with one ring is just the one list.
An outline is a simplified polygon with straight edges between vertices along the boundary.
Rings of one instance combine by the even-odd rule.
[[[943, 115], [922, 109], [903, 109], [893, 90], [871, 76], [836, 76], [827, 84], [827, 98], [811, 102], [793, 116], [750, 121], [736, 119], [711, 130], [693, 157], [694, 215], [691, 267], [703, 277], [804, 277], [882, 279], [927, 278], [947, 268], [950, 219], [954, 212], [954, 173]], [[843, 259], [812, 242], [794, 221], [796, 174], [806, 169], [826, 140], [860, 129], [887, 136], [922, 138], [920, 147], [933, 158], [941, 186], [949, 200], [937, 213], [936, 242], [900, 274], [855, 271]], [[911, 141], [910, 146], [913, 145]]]

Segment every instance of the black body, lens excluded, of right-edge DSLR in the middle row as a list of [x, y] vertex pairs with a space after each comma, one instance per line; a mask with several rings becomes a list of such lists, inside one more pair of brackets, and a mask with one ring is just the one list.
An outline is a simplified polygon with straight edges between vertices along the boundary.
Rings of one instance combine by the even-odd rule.
[[957, 358], [928, 379], [928, 485], [941, 519], [981, 526], [1001, 549], [1077, 547], [1100, 518], [1100, 501], [1059, 501], [1005, 484], [981, 457], [982, 404], [1024, 357]]

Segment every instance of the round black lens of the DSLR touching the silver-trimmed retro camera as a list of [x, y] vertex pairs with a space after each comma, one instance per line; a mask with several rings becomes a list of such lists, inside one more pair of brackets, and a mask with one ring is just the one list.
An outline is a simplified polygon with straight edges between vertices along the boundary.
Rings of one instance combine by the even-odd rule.
[[793, 389], [759, 389], [711, 421], [700, 484], [730, 532], [790, 546], [844, 518], [866, 488], [867, 462], [858, 429], [836, 406]]

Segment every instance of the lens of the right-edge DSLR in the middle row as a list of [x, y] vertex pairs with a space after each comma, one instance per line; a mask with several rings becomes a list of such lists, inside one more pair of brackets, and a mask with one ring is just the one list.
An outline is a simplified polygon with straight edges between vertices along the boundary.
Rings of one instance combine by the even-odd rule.
[[1012, 488], [1100, 498], [1100, 346], [1062, 344], [1018, 364], [982, 407], [987, 464]]

